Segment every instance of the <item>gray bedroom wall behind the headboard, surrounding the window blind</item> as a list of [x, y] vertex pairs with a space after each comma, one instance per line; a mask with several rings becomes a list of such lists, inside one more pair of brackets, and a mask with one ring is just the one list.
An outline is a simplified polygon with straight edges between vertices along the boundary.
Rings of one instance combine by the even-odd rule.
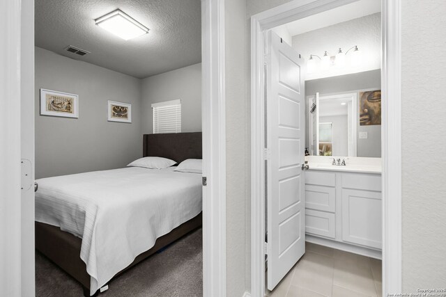
[[153, 133], [152, 104], [181, 99], [181, 131], [201, 131], [201, 63], [141, 80], [142, 133]]

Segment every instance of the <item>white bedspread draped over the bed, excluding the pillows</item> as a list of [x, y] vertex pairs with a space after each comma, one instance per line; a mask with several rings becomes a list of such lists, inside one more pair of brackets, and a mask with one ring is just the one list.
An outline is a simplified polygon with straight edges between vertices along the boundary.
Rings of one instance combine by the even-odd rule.
[[39, 179], [36, 220], [82, 238], [91, 294], [201, 212], [201, 175], [139, 167]]

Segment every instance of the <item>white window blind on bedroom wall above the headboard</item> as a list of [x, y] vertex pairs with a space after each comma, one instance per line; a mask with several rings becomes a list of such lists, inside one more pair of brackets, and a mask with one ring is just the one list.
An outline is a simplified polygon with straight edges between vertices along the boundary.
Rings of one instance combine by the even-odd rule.
[[181, 100], [152, 104], [153, 134], [181, 132]]

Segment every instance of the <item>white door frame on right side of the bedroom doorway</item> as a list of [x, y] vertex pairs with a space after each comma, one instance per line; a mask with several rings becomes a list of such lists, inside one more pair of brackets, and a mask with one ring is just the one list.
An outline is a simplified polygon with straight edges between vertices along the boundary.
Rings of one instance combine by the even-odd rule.
[[226, 296], [224, 0], [201, 0], [203, 296]]

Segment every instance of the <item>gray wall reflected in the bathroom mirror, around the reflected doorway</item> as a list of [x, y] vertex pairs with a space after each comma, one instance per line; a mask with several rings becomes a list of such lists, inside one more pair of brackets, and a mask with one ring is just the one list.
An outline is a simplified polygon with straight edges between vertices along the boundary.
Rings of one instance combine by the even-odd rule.
[[[314, 95], [316, 92], [323, 94], [348, 93], [357, 90], [380, 90], [381, 70], [370, 70], [354, 74], [340, 75], [339, 77], [327, 77], [325, 79], [313, 79], [305, 81], [305, 95]], [[359, 94], [358, 94], [359, 101]], [[308, 102], [305, 102], [308, 110]], [[359, 106], [359, 104], [358, 104]], [[308, 113], [305, 113], [308, 122]], [[305, 143], [308, 147], [308, 125], [305, 127]], [[367, 139], [360, 139], [359, 133], [367, 132]], [[360, 126], [359, 116], [357, 122], [357, 156], [381, 156], [381, 125]]]

